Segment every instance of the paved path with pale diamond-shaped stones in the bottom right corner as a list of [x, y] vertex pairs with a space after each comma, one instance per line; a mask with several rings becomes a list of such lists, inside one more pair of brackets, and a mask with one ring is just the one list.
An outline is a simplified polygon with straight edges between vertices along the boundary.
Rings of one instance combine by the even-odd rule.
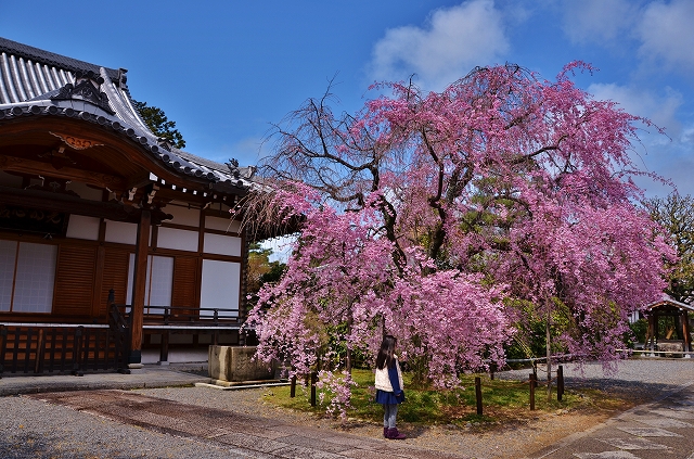
[[694, 384], [641, 405], [534, 459], [694, 459]]

